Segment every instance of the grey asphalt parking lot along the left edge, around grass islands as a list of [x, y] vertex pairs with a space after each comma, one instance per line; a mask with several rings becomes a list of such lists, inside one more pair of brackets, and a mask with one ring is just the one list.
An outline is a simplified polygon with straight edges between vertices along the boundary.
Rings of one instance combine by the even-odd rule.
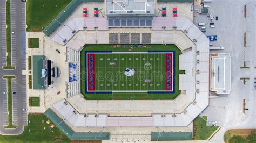
[[[5, 17], [5, 0], [1, 0], [1, 39], [0, 39], [0, 66], [6, 65], [6, 17]], [[0, 87], [0, 134], [21, 134], [24, 125], [28, 125], [28, 113], [23, 111], [27, 108], [26, 99], [26, 76], [22, 75], [22, 70], [26, 69], [26, 23], [25, 23], [25, 2], [11, 1], [11, 54], [12, 66], [16, 66], [14, 70], [0, 69], [0, 76], [15, 75], [16, 79], [12, 80], [12, 91], [16, 94], [12, 95], [12, 123], [17, 125], [15, 129], [5, 129], [4, 126], [8, 124], [8, 106], [7, 106], [7, 91], [6, 80], [0, 79], [2, 83]], [[4, 34], [4, 35], [3, 35]]]

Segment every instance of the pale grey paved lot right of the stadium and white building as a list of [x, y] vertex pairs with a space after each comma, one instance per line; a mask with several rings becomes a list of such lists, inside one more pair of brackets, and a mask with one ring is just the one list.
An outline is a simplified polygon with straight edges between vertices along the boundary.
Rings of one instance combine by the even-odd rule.
[[[251, 2], [251, 3], [250, 3]], [[247, 18], [244, 18], [244, 5], [247, 6]], [[223, 142], [223, 135], [231, 128], [255, 128], [256, 127], [256, 90], [254, 90], [254, 78], [256, 77], [256, 51], [255, 51], [255, 1], [253, 0], [214, 0], [210, 5], [209, 13], [218, 16], [218, 21], [213, 19], [215, 28], [206, 25], [206, 35], [218, 35], [218, 41], [211, 42], [213, 46], [223, 46], [224, 50], [211, 51], [230, 53], [232, 58], [231, 68], [231, 93], [221, 95], [220, 98], [210, 99], [208, 108], [203, 112], [209, 120], [216, 120], [222, 127], [221, 131], [214, 135], [213, 142]], [[210, 23], [206, 15], [196, 14], [195, 22]], [[247, 32], [247, 45], [244, 48], [244, 32]], [[241, 69], [246, 61], [250, 69]], [[244, 85], [240, 77], [250, 77]], [[242, 113], [242, 101], [246, 99], [246, 108]]]

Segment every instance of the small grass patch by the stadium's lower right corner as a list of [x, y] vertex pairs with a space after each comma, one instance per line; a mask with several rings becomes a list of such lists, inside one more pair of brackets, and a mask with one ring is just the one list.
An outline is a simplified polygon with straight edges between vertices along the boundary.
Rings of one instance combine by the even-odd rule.
[[[203, 116], [207, 120], [207, 116]], [[193, 121], [194, 139], [195, 140], [207, 140], [219, 126], [206, 126], [206, 121], [197, 117]]]

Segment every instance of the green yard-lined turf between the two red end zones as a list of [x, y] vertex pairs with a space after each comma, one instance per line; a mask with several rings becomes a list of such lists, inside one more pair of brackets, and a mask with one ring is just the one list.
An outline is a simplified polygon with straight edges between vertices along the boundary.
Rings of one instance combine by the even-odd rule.
[[[136, 74], [126, 76], [126, 68]], [[165, 53], [95, 53], [95, 75], [96, 91], [164, 91]]]

